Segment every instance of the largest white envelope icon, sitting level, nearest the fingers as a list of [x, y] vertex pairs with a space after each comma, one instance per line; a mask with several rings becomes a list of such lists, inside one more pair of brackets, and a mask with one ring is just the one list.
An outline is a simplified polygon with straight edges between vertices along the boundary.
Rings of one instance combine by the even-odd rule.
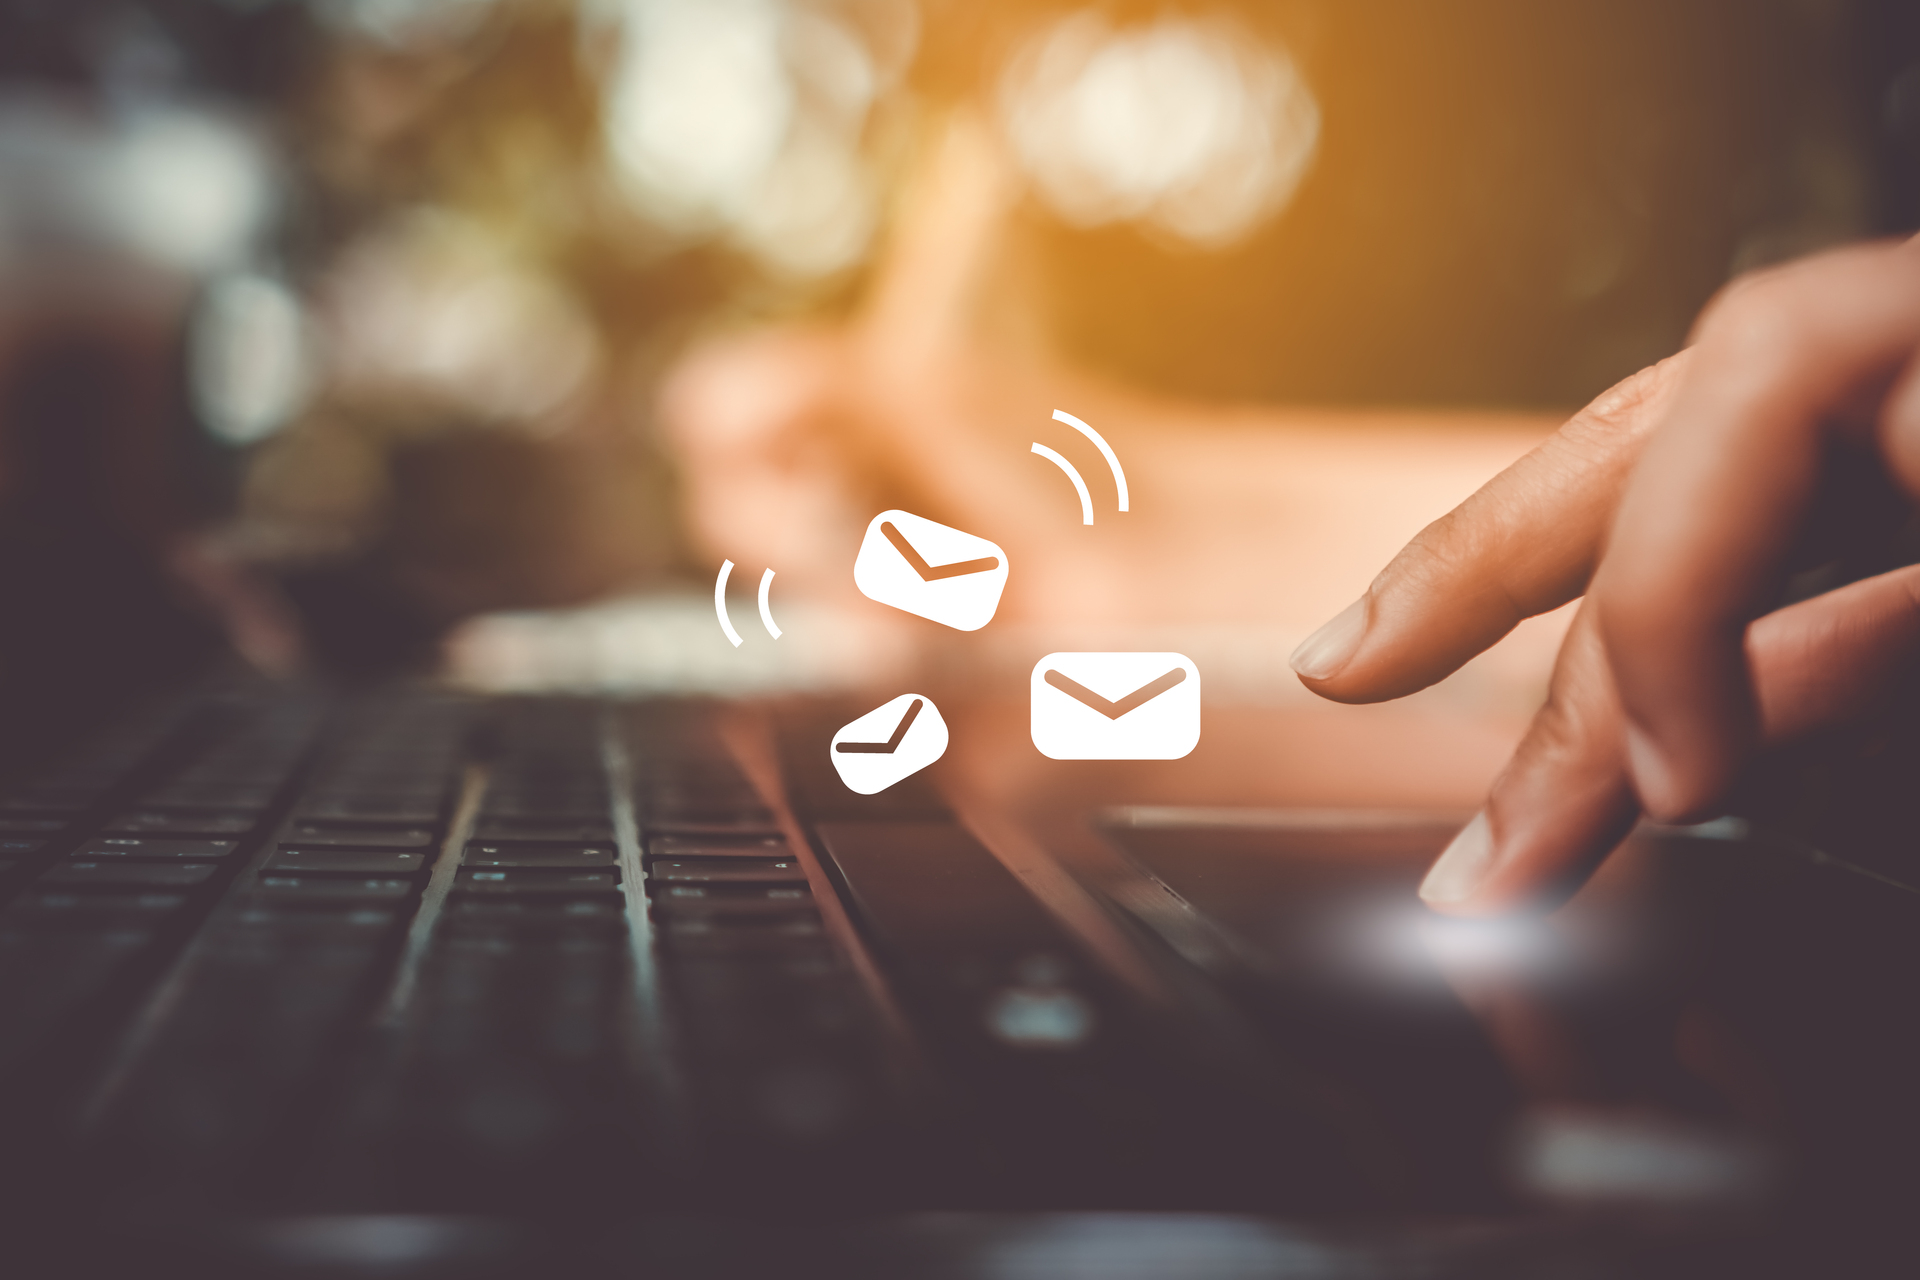
[[1033, 745], [1054, 760], [1179, 760], [1200, 745], [1200, 668], [1179, 652], [1050, 652]]

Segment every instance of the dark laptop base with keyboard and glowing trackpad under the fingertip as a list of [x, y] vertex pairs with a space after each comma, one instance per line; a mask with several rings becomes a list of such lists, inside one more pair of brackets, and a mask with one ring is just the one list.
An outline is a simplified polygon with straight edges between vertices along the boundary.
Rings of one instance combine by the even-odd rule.
[[8, 1274], [1885, 1257], [1884, 877], [1722, 821], [1448, 921], [1463, 814], [860, 794], [858, 710], [221, 674], [21, 777]]

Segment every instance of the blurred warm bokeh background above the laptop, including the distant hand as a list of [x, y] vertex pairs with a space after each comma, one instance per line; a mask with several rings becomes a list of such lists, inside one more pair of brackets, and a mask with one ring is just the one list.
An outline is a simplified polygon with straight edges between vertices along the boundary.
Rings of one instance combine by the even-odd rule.
[[1916, 221], [1905, 0], [0, 0], [0, 766], [223, 652], [956, 660], [847, 581], [893, 503], [1035, 566], [968, 662], [1288, 697], [1730, 274]]

